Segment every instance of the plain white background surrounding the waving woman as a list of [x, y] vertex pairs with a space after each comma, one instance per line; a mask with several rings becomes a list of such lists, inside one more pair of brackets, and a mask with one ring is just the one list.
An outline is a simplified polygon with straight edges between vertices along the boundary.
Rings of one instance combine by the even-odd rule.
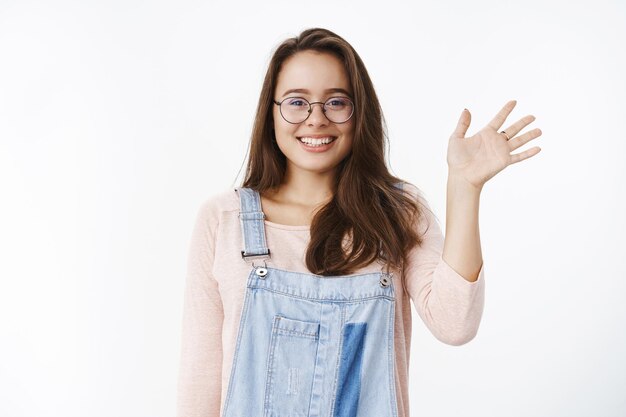
[[469, 134], [510, 99], [504, 127], [543, 131], [483, 189], [476, 338], [414, 314], [412, 415], [626, 415], [624, 2], [1, 0], [1, 416], [174, 414], [196, 212], [241, 179], [273, 48], [314, 26], [364, 60], [443, 227], [464, 107]]

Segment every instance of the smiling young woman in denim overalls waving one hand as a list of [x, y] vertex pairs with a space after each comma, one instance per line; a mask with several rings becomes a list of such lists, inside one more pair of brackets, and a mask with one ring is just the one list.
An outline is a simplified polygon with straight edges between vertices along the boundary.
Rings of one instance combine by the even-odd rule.
[[275, 51], [241, 187], [201, 207], [190, 247], [179, 417], [409, 416], [410, 301], [439, 340], [469, 342], [484, 305], [483, 185], [527, 116], [452, 134], [446, 237], [391, 175], [379, 101], [355, 50], [308, 29]]

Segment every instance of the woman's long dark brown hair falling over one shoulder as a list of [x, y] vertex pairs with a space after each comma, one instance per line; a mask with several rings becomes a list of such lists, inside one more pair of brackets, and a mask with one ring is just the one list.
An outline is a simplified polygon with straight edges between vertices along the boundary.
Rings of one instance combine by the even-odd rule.
[[347, 275], [379, 257], [402, 268], [409, 250], [422, 243], [414, 226], [421, 209], [417, 200], [394, 185], [402, 180], [391, 175], [385, 164], [386, 125], [363, 61], [330, 30], [306, 29], [274, 51], [259, 97], [242, 187], [263, 192], [282, 182], [286, 158], [273, 141], [272, 100], [281, 65], [305, 50], [331, 53], [341, 60], [355, 105], [351, 153], [337, 167], [333, 198], [311, 223], [307, 268], [318, 275]]

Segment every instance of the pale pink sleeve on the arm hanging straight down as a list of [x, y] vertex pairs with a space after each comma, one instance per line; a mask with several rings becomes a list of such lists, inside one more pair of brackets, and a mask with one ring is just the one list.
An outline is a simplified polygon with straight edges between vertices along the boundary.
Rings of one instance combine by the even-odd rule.
[[224, 309], [211, 272], [217, 218], [209, 203], [198, 211], [187, 258], [177, 417], [220, 415]]

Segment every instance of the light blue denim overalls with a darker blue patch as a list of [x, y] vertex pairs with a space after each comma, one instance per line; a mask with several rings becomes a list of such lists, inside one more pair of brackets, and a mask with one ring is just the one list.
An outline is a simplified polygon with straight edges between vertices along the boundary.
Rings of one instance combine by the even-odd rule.
[[[242, 261], [270, 258], [261, 198], [237, 188]], [[394, 283], [252, 262], [223, 417], [397, 417]]]

